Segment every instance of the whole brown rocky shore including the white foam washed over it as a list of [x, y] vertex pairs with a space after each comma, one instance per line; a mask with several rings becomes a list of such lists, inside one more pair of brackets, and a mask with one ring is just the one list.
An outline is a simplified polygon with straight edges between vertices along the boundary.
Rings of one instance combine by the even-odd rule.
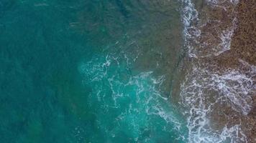
[[[191, 27], [200, 34], [189, 29], [195, 38], [189, 39], [193, 48], [188, 63], [196, 63], [197, 71], [187, 80], [202, 81], [196, 84], [204, 87], [199, 91], [205, 97], [196, 98], [211, 104], [206, 117], [213, 123], [212, 129], [222, 131], [221, 135], [237, 134], [230, 142], [255, 143], [256, 0], [202, 0], [194, 4], [200, 20]], [[187, 89], [189, 86], [193, 87], [188, 84]]]

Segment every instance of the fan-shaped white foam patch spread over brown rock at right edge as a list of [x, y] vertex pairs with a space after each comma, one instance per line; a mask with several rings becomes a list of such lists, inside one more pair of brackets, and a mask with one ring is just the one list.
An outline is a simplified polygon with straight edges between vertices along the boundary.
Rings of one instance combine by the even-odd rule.
[[214, 88], [218, 89], [221, 96], [232, 104], [234, 110], [244, 115], [250, 112], [252, 97], [249, 94], [254, 88], [251, 76], [238, 69], [229, 69], [221, 75], [211, 74], [211, 79], [214, 81]]

